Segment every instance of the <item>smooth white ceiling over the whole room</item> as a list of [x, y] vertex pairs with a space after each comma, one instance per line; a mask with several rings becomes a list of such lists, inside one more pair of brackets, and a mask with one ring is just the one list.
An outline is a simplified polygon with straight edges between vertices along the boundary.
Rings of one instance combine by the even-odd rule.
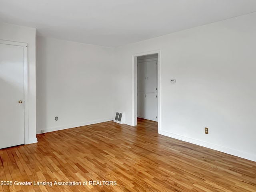
[[0, 22], [108, 47], [256, 11], [256, 0], [0, 0]]

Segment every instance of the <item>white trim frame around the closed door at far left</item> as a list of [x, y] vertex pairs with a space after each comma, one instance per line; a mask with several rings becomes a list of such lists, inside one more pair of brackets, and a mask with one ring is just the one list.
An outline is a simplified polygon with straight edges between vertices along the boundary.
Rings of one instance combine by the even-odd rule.
[[24, 144], [29, 143], [28, 137], [28, 44], [15, 41], [0, 40], [0, 44], [23, 47], [23, 84], [24, 84]]

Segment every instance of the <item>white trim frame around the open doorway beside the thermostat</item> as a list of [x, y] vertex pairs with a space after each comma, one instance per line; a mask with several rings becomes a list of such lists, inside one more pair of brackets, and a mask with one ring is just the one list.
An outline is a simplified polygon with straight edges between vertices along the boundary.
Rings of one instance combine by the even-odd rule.
[[161, 50], [132, 54], [132, 126], [137, 125], [137, 57], [158, 54], [158, 133], [160, 129], [161, 108]]

